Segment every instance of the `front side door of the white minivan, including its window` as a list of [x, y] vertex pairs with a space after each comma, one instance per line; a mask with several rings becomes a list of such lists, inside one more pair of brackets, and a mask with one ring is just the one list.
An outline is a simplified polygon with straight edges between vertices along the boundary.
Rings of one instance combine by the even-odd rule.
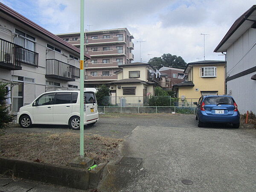
[[53, 123], [53, 104], [55, 93], [46, 93], [33, 103], [34, 123]]

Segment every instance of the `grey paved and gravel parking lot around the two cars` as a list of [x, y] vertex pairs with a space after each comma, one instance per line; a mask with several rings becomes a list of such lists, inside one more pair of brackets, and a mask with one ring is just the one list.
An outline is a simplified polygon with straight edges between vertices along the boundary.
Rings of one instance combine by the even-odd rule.
[[[15, 126], [7, 133], [45, 131], [79, 133], [42, 125]], [[111, 180], [103, 180], [100, 191], [255, 191], [256, 129], [228, 124], [198, 128], [194, 115], [112, 113], [101, 115], [84, 133], [123, 139], [122, 156], [143, 159], [138, 169], [107, 170]], [[183, 179], [193, 184], [184, 185]]]

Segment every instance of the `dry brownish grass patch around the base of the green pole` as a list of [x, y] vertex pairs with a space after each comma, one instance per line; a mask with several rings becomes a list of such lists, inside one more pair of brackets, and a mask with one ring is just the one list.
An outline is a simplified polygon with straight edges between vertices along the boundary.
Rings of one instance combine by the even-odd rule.
[[[119, 157], [119, 139], [84, 135], [84, 156], [94, 158], [96, 164]], [[17, 160], [67, 165], [79, 155], [77, 133], [11, 133], [0, 137], [0, 156]]]

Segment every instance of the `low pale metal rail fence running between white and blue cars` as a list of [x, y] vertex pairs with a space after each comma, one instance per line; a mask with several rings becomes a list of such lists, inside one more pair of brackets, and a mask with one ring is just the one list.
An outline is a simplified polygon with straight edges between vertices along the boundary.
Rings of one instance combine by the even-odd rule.
[[176, 106], [98, 106], [98, 111], [102, 113], [183, 113], [195, 114], [195, 107]]

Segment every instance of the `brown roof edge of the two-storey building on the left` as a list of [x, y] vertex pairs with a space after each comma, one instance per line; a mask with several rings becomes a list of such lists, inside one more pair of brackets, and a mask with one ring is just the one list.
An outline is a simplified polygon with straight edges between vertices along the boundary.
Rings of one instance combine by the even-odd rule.
[[[77, 48], [73, 45], [70, 45], [66, 41], [63, 41], [63, 39], [59, 38], [57, 35], [54, 35], [53, 33], [49, 32], [48, 30], [44, 29], [43, 27], [39, 26], [38, 24], [34, 23], [33, 21], [29, 20], [28, 18], [24, 17], [23, 15], [20, 15], [18, 12], [15, 12], [13, 9], [9, 8], [8, 6], [4, 5], [3, 3], [0, 3], [0, 11], [15, 18], [16, 20], [25, 24], [26, 26], [28, 26], [32, 29], [35, 29], [36, 31], [42, 33], [43, 35], [46, 35], [47, 37], [51, 38], [52, 40], [57, 41], [58, 43], [64, 45], [65, 47], [80, 53], [79, 48]], [[90, 55], [88, 55], [88, 54], [84, 54], [84, 55], [87, 58], [90, 58]]]

